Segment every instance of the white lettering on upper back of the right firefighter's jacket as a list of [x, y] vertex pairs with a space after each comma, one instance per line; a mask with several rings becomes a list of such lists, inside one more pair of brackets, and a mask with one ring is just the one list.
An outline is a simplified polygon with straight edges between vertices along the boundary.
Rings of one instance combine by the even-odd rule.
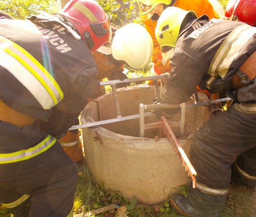
[[220, 19], [213, 18], [212, 20], [209, 20], [206, 22], [206, 20], [198, 20], [193, 25], [192, 28], [194, 31], [189, 35], [189, 37], [197, 39], [202, 32], [204, 32], [206, 29], [209, 29], [211, 26], [213, 26], [214, 23], [218, 23], [221, 21]]

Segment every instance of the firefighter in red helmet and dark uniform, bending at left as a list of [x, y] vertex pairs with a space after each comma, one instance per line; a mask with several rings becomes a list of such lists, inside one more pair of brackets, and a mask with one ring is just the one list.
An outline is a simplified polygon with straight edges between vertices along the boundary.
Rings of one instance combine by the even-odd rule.
[[0, 202], [15, 216], [72, 216], [77, 166], [57, 138], [97, 84], [91, 54], [110, 50], [107, 15], [72, 0], [53, 17], [0, 19]]

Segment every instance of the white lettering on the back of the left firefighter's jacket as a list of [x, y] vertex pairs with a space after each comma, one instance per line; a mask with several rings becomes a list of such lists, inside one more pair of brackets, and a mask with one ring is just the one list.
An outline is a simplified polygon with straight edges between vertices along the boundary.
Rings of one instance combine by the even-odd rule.
[[70, 46], [68, 46], [68, 44], [65, 43], [65, 41], [56, 33], [57, 31], [61, 34], [66, 34], [66, 29], [63, 26], [54, 24], [52, 29], [55, 31], [52, 31], [51, 29], [45, 29], [42, 26], [37, 26], [37, 28], [41, 33], [44, 34], [44, 38], [48, 39], [49, 43], [55, 46], [56, 49], [61, 53], [66, 53], [67, 51], [72, 50]]

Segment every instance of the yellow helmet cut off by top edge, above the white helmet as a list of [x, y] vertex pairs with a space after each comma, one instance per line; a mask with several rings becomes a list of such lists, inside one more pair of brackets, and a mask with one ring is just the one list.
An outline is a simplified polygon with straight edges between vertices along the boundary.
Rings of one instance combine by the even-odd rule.
[[157, 5], [171, 4], [172, 0], [136, 0], [139, 6], [141, 20], [149, 20], [157, 9]]

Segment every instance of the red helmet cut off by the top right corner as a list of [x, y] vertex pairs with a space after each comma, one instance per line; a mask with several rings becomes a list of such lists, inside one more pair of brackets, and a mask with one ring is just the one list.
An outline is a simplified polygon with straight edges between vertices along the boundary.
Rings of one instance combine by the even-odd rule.
[[225, 18], [256, 26], [255, 11], [256, 0], [229, 0], [225, 9]]

